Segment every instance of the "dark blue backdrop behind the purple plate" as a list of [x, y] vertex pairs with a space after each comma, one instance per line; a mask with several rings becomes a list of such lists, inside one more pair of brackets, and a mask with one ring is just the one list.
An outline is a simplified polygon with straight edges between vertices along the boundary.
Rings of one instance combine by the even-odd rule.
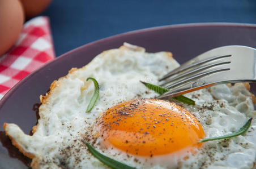
[[136, 29], [184, 23], [256, 24], [256, 0], [53, 0], [56, 56], [97, 39]]

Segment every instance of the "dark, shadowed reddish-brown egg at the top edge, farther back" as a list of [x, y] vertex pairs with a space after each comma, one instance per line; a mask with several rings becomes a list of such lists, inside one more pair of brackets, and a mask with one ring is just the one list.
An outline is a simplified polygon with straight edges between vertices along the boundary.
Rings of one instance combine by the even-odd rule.
[[52, 0], [20, 0], [27, 18], [39, 15], [52, 2]]

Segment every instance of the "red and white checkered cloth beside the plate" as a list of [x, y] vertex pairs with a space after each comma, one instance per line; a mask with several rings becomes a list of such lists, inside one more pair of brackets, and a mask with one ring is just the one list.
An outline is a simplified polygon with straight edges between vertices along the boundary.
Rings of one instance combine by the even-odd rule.
[[0, 99], [16, 83], [54, 57], [48, 17], [29, 20], [15, 45], [0, 57]]

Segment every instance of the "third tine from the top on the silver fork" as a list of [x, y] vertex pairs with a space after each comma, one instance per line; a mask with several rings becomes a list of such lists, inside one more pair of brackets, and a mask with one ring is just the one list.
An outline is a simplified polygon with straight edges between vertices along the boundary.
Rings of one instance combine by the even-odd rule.
[[[168, 89], [172, 88], [173, 89], [176, 86], [181, 86], [182, 84], [185, 84], [187, 82], [195, 81], [195, 80], [197, 80], [199, 78], [202, 78], [202, 77], [204, 77], [206, 75], [214, 74], [214, 73], [217, 73], [217, 72], [223, 72], [223, 71], [227, 71], [227, 70], [230, 70], [230, 69], [229, 68], [215, 69], [215, 70], [210, 70], [210, 71], [207, 71], [207, 72], [199, 73], [199, 74], [196, 74], [196, 75], [192, 75], [191, 77], [189, 77], [187, 79], [182, 79], [181, 81], [178, 81], [176, 83], [169, 84], [165, 88], [168, 88]], [[194, 86], [192, 86], [192, 87], [194, 87]]]

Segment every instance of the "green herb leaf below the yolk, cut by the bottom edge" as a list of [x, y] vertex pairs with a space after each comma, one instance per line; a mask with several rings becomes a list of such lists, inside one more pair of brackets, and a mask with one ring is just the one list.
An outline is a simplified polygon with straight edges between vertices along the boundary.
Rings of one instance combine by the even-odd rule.
[[100, 152], [98, 152], [97, 150], [95, 150], [89, 143], [86, 143], [86, 146], [88, 147], [89, 152], [96, 157], [97, 159], [99, 159], [99, 161], [103, 162], [104, 164], [106, 164], [109, 167], [112, 167], [114, 169], [131, 169], [131, 168], [135, 168], [135, 167], [130, 167], [127, 166], [124, 163], [118, 162], [112, 158], [106, 157], [105, 155], [101, 154]]

